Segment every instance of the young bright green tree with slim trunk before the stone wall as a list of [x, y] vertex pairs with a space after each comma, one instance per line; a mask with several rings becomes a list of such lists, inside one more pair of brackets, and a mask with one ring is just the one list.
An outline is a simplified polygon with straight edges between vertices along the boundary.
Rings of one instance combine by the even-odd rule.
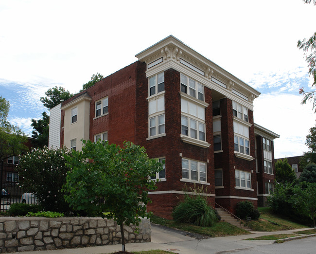
[[125, 251], [123, 225], [139, 225], [140, 217], [150, 215], [148, 191], [157, 187], [149, 176], [162, 170], [162, 165], [131, 142], [124, 142], [123, 148], [104, 141], [83, 140], [83, 144], [82, 152], [65, 155], [72, 168], [63, 189], [65, 200], [77, 210], [116, 220]]

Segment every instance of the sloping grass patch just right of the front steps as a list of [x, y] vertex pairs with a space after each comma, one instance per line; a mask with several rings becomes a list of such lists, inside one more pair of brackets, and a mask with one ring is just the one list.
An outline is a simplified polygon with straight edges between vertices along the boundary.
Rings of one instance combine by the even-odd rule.
[[258, 207], [261, 213], [258, 220], [246, 221], [245, 225], [253, 231], [280, 231], [288, 229], [305, 228], [305, 225], [293, 222], [272, 213], [269, 207]]

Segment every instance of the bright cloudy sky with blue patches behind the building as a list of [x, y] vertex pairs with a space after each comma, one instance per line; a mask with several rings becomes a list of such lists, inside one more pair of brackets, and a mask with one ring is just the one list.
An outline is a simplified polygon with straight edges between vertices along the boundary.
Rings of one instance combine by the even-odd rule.
[[8, 120], [31, 134], [49, 88], [79, 91], [172, 34], [262, 93], [254, 120], [281, 135], [276, 158], [301, 155], [316, 115], [300, 106], [298, 89], [312, 79], [296, 45], [316, 31], [315, 14], [301, 0], [3, 0], [0, 95]]

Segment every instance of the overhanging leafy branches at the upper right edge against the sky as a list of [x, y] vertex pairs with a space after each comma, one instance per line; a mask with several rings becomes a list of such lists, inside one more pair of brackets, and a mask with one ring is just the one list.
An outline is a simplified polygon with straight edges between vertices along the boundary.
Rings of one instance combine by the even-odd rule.
[[[316, 5], [316, 0], [304, 0], [304, 3], [313, 3]], [[298, 40], [298, 48], [306, 52], [305, 55], [305, 60], [308, 63], [308, 73], [310, 76], [313, 77], [314, 82], [312, 84], [312, 87], [316, 86], [316, 32], [312, 37], [309, 39], [303, 39]], [[301, 104], [305, 104], [308, 100], [313, 101], [313, 109], [315, 109], [314, 112], [316, 112], [316, 96], [315, 96], [316, 91], [304, 91], [304, 88], [301, 88], [299, 90], [300, 94], [303, 94], [303, 100]]]

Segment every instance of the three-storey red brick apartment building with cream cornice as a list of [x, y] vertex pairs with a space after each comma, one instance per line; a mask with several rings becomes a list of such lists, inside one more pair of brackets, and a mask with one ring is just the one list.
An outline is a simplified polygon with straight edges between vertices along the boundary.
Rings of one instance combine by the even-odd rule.
[[260, 92], [174, 36], [136, 57], [51, 109], [49, 145], [80, 150], [81, 139], [102, 139], [144, 146], [149, 157], [165, 160], [147, 207], [160, 217], [171, 218], [185, 186], [194, 184], [207, 187], [211, 205], [231, 212], [242, 200], [263, 203], [279, 135], [254, 124]]

